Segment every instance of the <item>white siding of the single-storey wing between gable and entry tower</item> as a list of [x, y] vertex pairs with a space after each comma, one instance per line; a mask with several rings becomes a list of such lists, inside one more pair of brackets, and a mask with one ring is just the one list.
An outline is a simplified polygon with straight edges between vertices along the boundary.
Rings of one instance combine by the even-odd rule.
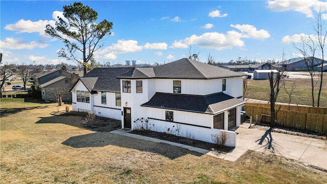
[[102, 104], [101, 91], [94, 95], [94, 113], [97, 116], [121, 120], [121, 106], [116, 106], [116, 93], [106, 92], [106, 104]]

